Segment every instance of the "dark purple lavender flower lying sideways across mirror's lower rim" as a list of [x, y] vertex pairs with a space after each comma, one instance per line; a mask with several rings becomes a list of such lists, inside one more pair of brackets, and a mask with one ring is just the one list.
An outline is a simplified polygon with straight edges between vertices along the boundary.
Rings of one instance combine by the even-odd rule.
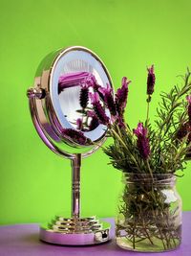
[[63, 128], [62, 135], [80, 145], [85, 145], [88, 142], [88, 139], [84, 136], [83, 132], [77, 131], [73, 128]]

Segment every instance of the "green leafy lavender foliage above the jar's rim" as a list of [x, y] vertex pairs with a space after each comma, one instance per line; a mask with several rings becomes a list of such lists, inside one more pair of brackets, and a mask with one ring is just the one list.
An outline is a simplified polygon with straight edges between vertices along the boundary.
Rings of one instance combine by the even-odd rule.
[[111, 164], [124, 173], [175, 174], [183, 171], [186, 154], [190, 150], [188, 138], [178, 139], [177, 133], [188, 121], [186, 95], [191, 91], [190, 71], [182, 77], [183, 84], [175, 85], [169, 93], [160, 93], [159, 107], [155, 128], [145, 121], [151, 153], [147, 160], [142, 159], [137, 146], [137, 139], [128, 125], [110, 128], [114, 143], [103, 151], [109, 155]]

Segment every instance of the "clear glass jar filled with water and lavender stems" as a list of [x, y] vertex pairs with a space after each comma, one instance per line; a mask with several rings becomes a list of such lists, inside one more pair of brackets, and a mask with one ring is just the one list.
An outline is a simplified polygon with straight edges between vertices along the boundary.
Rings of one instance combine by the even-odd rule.
[[123, 174], [117, 205], [117, 245], [135, 251], [175, 249], [181, 241], [181, 199], [176, 177]]

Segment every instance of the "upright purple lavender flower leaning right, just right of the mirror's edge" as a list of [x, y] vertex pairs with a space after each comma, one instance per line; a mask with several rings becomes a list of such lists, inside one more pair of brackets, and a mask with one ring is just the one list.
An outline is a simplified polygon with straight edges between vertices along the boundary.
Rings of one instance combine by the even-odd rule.
[[117, 89], [116, 93], [116, 106], [117, 106], [117, 113], [119, 116], [123, 116], [124, 108], [127, 104], [127, 97], [128, 97], [128, 85], [131, 81], [127, 81], [127, 78], [122, 78], [122, 85], [121, 88]]

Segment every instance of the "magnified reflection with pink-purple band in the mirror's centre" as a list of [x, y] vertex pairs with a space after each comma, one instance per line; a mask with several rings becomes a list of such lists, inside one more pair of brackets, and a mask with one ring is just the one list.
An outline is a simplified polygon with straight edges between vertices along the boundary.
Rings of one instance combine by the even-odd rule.
[[[71, 125], [81, 131], [94, 128], [94, 116], [91, 115], [92, 105], [89, 93], [96, 86], [96, 78], [88, 72], [75, 72], [59, 77], [58, 95], [62, 112]], [[97, 124], [98, 125], [98, 124]]]

